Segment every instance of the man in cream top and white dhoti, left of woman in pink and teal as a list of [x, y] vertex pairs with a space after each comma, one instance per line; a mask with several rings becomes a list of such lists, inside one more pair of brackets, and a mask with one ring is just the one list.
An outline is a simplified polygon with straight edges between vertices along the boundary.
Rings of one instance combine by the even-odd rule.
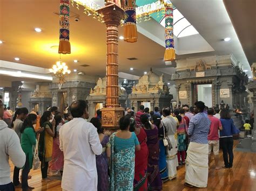
[[168, 150], [168, 153], [166, 155], [169, 180], [172, 180], [177, 176], [178, 158], [177, 158], [177, 141], [175, 139], [175, 135], [177, 132], [177, 122], [173, 117], [170, 116], [170, 114], [171, 114], [170, 108], [163, 109], [164, 119], [162, 119], [161, 124], [166, 129], [167, 131], [166, 136], [169, 137], [172, 144], [171, 151]]

